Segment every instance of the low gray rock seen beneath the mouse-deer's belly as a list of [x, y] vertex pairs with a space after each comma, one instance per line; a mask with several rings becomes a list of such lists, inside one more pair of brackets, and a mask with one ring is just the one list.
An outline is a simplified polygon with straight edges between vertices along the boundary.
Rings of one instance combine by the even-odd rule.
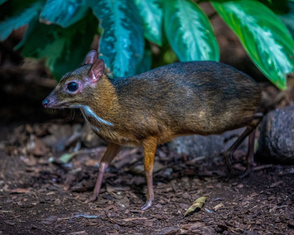
[[[227, 150], [246, 127], [231, 130], [222, 135], [189, 135], [177, 137], [169, 143], [169, 148], [178, 153], [193, 157], [215, 157]], [[239, 148], [247, 148], [248, 138]]]

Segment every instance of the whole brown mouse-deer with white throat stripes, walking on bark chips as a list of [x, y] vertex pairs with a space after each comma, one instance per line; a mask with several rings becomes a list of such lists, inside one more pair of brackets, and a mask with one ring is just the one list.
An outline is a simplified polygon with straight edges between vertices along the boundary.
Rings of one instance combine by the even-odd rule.
[[[144, 148], [148, 193], [142, 209], [146, 209], [154, 198], [152, 169], [156, 145], [181, 135], [220, 134], [247, 126], [225, 153], [230, 168], [233, 152], [262, 117], [258, 113], [258, 84], [218, 62], [174, 63], [115, 80], [103, 71], [103, 61], [92, 51], [85, 65], [66, 74], [43, 101], [50, 108], [80, 108], [96, 134], [110, 143], [101, 160], [93, 199], [98, 196], [104, 170], [122, 145]], [[254, 143], [254, 132], [250, 136]], [[248, 172], [252, 158], [253, 147], [249, 146]]]

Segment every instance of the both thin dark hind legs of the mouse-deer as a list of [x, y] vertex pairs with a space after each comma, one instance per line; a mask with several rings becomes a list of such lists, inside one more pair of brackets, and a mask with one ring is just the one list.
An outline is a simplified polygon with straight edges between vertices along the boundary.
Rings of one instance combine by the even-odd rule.
[[[255, 114], [253, 116], [252, 122], [246, 128], [246, 130], [242, 133], [242, 135], [240, 135], [238, 137], [238, 139], [235, 141], [235, 143], [233, 143], [233, 145], [227, 151], [224, 152], [224, 155], [225, 155], [225, 163], [227, 165], [227, 168], [228, 168], [228, 171], [229, 172], [232, 169], [232, 162], [231, 161], [232, 161], [233, 153], [239, 147], [239, 145], [245, 140], [245, 138], [248, 135], [250, 135], [255, 130], [255, 128], [258, 126], [259, 122], [261, 121], [262, 117], [263, 117], [263, 114], [262, 113]], [[254, 154], [254, 139], [255, 139], [255, 132], [254, 132], [254, 138], [253, 138], [253, 135], [252, 135], [251, 138], [250, 138], [251, 141], [249, 140], [250, 147], [248, 147], [248, 154], [247, 154], [247, 157], [246, 157], [246, 160], [247, 160], [247, 162], [249, 162], [249, 165], [250, 165], [248, 167], [248, 164], [247, 164], [248, 170], [251, 169], [250, 168], [251, 167], [251, 162], [253, 164], [253, 160], [252, 159], [253, 159], [253, 154]], [[252, 152], [252, 154], [251, 154], [251, 152]], [[247, 171], [247, 169], [246, 169], [246, 171]]]

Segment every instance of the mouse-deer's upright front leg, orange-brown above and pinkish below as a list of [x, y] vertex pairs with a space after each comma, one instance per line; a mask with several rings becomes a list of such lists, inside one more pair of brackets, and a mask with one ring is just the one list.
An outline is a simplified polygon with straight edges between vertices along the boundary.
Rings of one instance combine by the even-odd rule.
[[142, 145], [144, 148], [144, 170], [147, 178], [147, 200], [141, 209], [145, 210], [151, 207], [154, 200], [152, 173], [157, 137], [150, 137], [148, 140], [144, 140]]

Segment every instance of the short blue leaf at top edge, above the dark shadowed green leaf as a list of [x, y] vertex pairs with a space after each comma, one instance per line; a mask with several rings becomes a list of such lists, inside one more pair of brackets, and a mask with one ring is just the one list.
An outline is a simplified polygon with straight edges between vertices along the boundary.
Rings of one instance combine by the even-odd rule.
[[87, 10], [87, 0], [47, 0], [40, 21], [68, 27], [83, 18]]

